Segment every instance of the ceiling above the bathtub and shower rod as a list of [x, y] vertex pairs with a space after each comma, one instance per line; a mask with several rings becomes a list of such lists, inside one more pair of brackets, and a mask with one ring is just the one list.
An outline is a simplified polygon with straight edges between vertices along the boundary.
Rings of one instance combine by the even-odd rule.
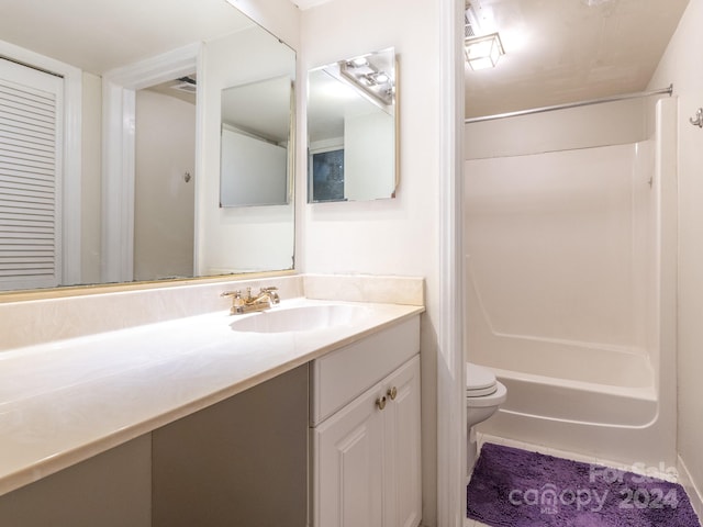
[[491, 69], [465, 65], [467, 117], [646, 90], [689, 3], [470, 1], [505, 55]]

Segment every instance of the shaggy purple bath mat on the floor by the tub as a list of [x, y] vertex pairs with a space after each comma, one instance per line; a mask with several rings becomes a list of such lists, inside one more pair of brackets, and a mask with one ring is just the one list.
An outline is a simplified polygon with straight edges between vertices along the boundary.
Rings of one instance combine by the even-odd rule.
[[467, 502], [493, 527], [701, 527], [678, 483], [492, 444]]

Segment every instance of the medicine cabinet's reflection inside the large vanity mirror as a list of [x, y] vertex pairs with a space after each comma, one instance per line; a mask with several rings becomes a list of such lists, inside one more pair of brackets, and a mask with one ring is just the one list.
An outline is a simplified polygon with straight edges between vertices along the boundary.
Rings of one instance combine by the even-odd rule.
[[291, 93], [288, 76], [222, 90], [220, 206], [288, 203]]

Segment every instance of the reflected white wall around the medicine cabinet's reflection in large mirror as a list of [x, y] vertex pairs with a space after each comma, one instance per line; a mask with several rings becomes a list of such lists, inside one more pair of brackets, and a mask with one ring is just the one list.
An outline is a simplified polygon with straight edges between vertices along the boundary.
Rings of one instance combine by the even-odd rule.
[[[274, 56], [280, 59], [271, 59]], [[220, 110], [223, 88], [293, 76], [293, 56], [292, 51], [259, 27], [204, 45], [199, 72], [202, 152], [196, 181], [197, 274], [292, 267], [292, 203], [220, 208]]]

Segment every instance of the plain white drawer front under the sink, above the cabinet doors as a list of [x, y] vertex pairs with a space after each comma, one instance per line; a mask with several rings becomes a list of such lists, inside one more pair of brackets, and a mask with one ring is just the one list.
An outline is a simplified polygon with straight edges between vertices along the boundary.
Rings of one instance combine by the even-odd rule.
[[312, 362], [310, 421], [321, 423], [420, 351], [420, 316]]

